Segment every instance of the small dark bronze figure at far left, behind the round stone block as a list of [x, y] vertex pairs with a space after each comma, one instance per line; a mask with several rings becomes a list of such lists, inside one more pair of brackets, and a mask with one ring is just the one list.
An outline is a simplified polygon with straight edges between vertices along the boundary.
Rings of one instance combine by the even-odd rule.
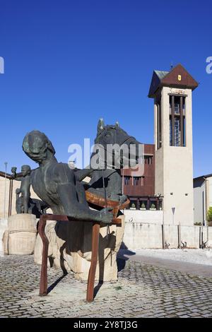
[[[20, 188], [16, 189], [16, 212], [17, 213], [28, 213], [29, 201], [30, 201], [30, 166], [23, 165], [21, 167], [22, 177], [17, 177], [16, 167], [12, 167], [11, 172], [13, 178], [16, 181], [20, 181]], [[20, 196], [19, 196], [20, 195]]]

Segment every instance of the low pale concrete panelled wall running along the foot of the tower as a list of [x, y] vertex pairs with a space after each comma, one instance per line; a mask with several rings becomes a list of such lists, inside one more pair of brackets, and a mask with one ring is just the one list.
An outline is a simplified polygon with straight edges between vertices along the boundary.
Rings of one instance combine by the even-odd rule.
[[[212, 227], [202, 227], [204, 242], [208, 240], [207, 245], [212, 247]], [[199, 248], [201, 236], [201, 227], [184, 226], [180, 227], [180, 237], [182, 242], [187, 242], [189, 248]], [[170, 244], [169, 248], [177, 248], [178, 231], [177, 225], [165, 225], [165, 242]], [[162, 225], [130, 223], [126, 220], [124, 232], [124, 244], [129, 249], [163, 248]]]

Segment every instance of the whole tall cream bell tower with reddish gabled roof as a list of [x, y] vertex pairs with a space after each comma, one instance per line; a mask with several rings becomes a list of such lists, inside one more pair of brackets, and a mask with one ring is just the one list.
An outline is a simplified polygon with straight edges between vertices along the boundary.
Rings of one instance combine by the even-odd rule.
[[155, 194], [163, 196], [165, 224], [193, 225], [192, 91], [198, 83], [178, 64], [153, 71]]

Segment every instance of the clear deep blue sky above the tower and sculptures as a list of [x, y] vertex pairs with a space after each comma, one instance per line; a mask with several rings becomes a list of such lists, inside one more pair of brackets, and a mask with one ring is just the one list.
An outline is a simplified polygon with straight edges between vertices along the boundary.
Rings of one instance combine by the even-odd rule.
[[153, 69], [182, 63], [193, 95], [194, 176], [212, 172], [212, 1], [0, 0], [1, 154], [35, 164], [23, 136], [44, 131], [66, 162], [71, 143], [93, 141], [99, 117], [153, 143]]

